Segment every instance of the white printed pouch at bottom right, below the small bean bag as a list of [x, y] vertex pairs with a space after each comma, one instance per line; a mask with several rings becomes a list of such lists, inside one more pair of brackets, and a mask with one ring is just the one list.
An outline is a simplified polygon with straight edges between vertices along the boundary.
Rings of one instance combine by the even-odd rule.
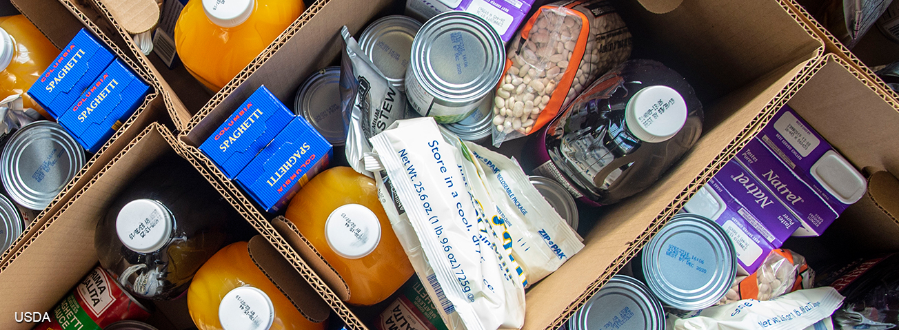
[[798, 290], [776, 299], [745, 299], [680, 315], [667, 314], [670, 330], [794, 330], [815, 326], [842, 305], [831, 287]]

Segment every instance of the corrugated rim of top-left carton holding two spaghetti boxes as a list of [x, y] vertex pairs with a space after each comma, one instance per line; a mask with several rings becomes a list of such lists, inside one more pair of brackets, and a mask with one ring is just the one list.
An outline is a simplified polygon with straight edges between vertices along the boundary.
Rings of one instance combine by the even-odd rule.
[[[66, 3], [63, 3], [63, 4], [66, 4]], [[20, 10], [20, 12], [22, 12], [19, 5], [15, 4], [15, 2], [13, 2], [13, 6], [15, 6], [17, 10]], [[37, 236], [38, 233], [34, 232], [36, 230], [36, 228], [41, 227], [43, 225], [43, 223], [46, 222], [50, 218], [51, 215], [57, 213], [58, 210], [61, 210], [63, 208], [64, 203], [73, 199], [74, 198], [73, 194], [80, 188], [84, 187], [85, 184], [89, 182], [88, 180], [91, 179], [93, 177], [93, 175], [97, 174], [100, 171], [99, 168], [101, 165], [108, 164], [108, 161], [104, 162], [101, 159], [108, 158], [107, 150], [112, 149], [111, 152], [116, 152], [115, 148], [112, 148], [112, 145], [115, 144], [116, 141], [118, 141], [122, 135], [125, 135], [126, 132], [129, 132], [129, 130], [132, 129], [132, 127], [134, 127], [134, 129], [142, 129], [140, 127], [141, 125], [140, 125], [140, 123], [138, 123], [138, 121], [142, 122], [142, 123], [147, 123], [149, 121], [155, 120], [155, 118], [152, 118], [153, 117], [152, 114], [149, 114], [149, 116], [151, 118], [145, 118], [146, 116], [144, 116], [144, 112], [147, 111], [147, 108], [150, 108], [151, 103], [153, 103], [156, 100], [156, 96], [157, 96], [156, 90], [158, 90], [155, 87], [156, 85], [153, 85], [152, 80], [147, 78], [147, 74], [144, 71], [142, 71], [141, 69], [138, 69], [136, 63], [131, 61], [129, 58], [125, 57], [124, 53], [121, 51], [121, 49], [116, 47], [112, 43], [112, 41], [104, 33], [102, 33], [102, 31], [100, 31], [100, 29], [95, 24], [93, 24], [93, 22], [88, 20], [84, 14], [81, 14], [77, 10], [73, 11], [73, 9], [75, 9], [73, 4], [69, 3], [67, 5], [67, 8], [69, 9], [70, 12], [72, 12], [79, 19], [79, 21], [81, 21], [85, 25], [85, 28], [88, 31], [93, 32], [93, 35], [99, 37], [102, 40], [102, 42], [105, 44], [105, 46], [109, 49], [112, 49], [116, 53], [116, 55], [118, 55], [118, 57], [121, 60], [123, 60], [126, 63], [126, 65], [129, 66], [129, 68], [131, 70], [133, 70], [135, 73], [138, 74], [138, 77], [141, 79], [141, 81], [143, 81], [144, 83], [147, 83], [147, 85], [149, 85], [151, 87], [151, 89], [148, 92], [147, 96], [144, 98], [144, 102], [141, 103], [141, 105], [138, 107], [138, 109], [136, 111], [134, 111], [134, 113], [131, 115], [131, 117], [129, 117], [129, 120], [126, 120], [125, 123], [119, 129], [116, 129], [116, 131], [112, 134], [111, 138], [109, 138], [109, 140], [107, 140], [106, 143], [104, 143], [103, 146], [100, 147], [99, 150], [97, 150], [97, 153], [93, 154], [93, 156], [85, 163], [85, 165], [81, 168], [81, 170], [78, 171], [78, 173], [75, 175], [75, 177], [73, 177], [72, 180], [63, 188], [63, 190], [57, 194], [56, 198], [54, 198], [53, 201], [50, 201], [49, 206], [47, 208], [45, 208], [44, 210], [40, 211], [40, 214], [38, 215], [37, 219], [35, 219], [34, 221], [31, 221], [31, 223], [28, 225], [28, 227], [25, 227], [25, 229], [23, 230], [24, 234], [22, 234], [22, 236], [19, 236], [18, 238], [16, 238], [15, 242], [13, 242], [13, 245], [11, 245], [9, 248], [7, 248], [4, 251], [4, 253], [2, 255], [0, 255], [0, 261], [3, 261], [3, 262], [7, 261], [8, 258], [10, 258], [13, 255], [13, 252], [17, 251], [18, 249], [21, 249], [24, 242], [26, 242], [29, 238], [31, 238], [31, 236]], [[27, 13], [22, 13], [22, 14], [26, 18], [28, 17]], [[31, 20], [31, 19], [29, 19], [29, 20]], [[38, 29], [40, 30], [40, 27], [38, 27]], [[43, 33], [43, 31], [41, 31], [41, 33]], [[136, 123], [138, 123], [138, 124], [136, 125]]]

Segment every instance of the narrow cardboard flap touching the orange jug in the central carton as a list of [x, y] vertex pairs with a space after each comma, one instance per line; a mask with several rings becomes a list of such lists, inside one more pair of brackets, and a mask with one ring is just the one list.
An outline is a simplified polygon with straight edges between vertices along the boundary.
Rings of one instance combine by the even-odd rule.
[[346, 281], [343, 281], [343, 277], [330, 264], [325, 262], [322, 254], [319, 254], [316, 248], [309, 244], [306, 237], [299, 233], [297, 226], [294, 226], [290, 220], [284, 217], [272, 219], [271, 226], [275, 227], [281, 236], [284, 236], [288, 244], [297, 250], [297, 253], [303, 260], [331, 287], [331, 290], [334, 290], [338, 298], [341, 300], [350, 299], [350, 287], [346, 284]]

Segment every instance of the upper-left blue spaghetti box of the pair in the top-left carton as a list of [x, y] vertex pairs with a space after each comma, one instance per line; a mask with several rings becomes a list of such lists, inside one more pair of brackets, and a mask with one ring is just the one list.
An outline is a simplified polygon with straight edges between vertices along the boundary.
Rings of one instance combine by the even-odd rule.
[[78, 100], [88, 85], [100, 76], [115, 58], [109, 49], [93, 38], [85, 29], [78, 31], [66, 48], [59, 52], [28, 94], [37, 101], [53, 119], [58, 120], [64, 111]]

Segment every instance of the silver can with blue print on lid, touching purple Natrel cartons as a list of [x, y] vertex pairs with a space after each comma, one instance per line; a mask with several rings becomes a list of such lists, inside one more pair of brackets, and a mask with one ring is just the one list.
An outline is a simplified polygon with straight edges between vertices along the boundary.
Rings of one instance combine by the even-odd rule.
[[663, 304], [681, 310], [715, 305], [736, 275], [734, 243], [715, 221], [697, 214], [674, 216], [643, 248], [642, 275]]

